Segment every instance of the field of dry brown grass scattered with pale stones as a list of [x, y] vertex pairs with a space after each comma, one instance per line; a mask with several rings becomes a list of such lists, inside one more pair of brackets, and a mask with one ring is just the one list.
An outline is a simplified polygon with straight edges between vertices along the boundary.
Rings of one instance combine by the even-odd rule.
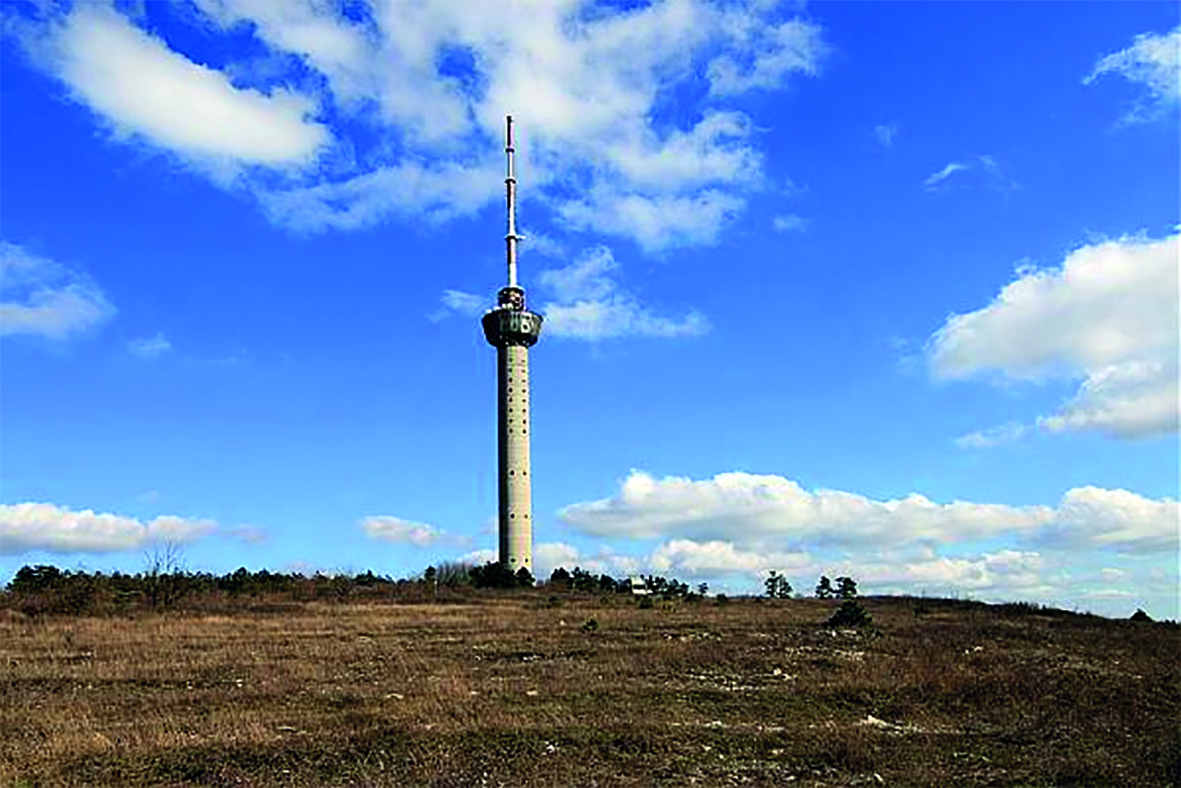
[[1176, 625], [863, 604], [5, 612], [0, 784], [1181, 784]]

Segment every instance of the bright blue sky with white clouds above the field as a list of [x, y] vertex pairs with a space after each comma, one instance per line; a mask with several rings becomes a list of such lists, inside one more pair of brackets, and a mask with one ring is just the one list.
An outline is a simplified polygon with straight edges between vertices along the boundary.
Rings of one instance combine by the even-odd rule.
[[1175, 4], [4, 4], [0, 574], [1177, 610]]

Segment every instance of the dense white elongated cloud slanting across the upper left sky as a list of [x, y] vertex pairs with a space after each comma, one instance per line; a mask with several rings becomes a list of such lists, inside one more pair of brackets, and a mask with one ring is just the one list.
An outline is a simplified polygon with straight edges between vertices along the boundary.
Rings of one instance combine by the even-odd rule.
[[138, 136], [217, 170], [305, 164], [328, 141], [327, 129], [308, 121], [317, 108], [306, 96], [240, 90], [112, 8], [78, 4], [48, 33], [34, 57], [118, 137]]

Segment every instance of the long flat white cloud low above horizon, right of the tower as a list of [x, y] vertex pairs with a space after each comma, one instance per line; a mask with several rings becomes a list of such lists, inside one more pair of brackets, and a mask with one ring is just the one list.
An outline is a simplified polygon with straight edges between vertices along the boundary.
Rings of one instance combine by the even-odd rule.
[[729, 542], [745, 551], [789, 546], [913, 546], [1009, 536], [1031, 543], [1175, 549], [1177, 502], [1125, 490], [1079, 488], [1057, 507], [954, 501], [922, 495], [875, 501], [840, 490], [804, 490], [782, 476], [718, 474], [693, 481], [632, 471], [609, 499], [563, 508], [562, 520], [598, 538]]

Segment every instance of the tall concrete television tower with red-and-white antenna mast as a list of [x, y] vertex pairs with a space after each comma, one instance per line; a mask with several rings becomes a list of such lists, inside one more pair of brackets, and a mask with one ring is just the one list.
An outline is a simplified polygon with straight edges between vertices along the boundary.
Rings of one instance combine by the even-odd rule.
[[509, 284], [496, 293], [496, 307], [481, 323], [488, 344], [496, 349], [496, 432], [500, 477], [500, 561], [514, 573], [533, 573], [533, 497], [529, 488], [529, 349], [541, 334], [542, 318], [524, 305], [524, 288], [516, 281], [516, 174], [513, 116], [505, 118], [504, 188], [508, 233], [504, 246]]

